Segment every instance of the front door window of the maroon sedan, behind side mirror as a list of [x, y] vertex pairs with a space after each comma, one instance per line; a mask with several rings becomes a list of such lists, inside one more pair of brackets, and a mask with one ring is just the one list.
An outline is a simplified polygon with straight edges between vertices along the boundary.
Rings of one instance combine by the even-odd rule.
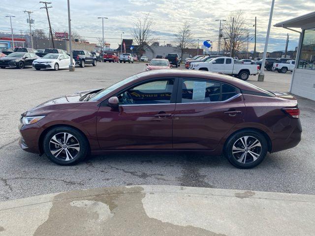
[[118, 96], [119, 104], [164, 104], [170, 103], [174, 79], [147, 82], [128, 89]]

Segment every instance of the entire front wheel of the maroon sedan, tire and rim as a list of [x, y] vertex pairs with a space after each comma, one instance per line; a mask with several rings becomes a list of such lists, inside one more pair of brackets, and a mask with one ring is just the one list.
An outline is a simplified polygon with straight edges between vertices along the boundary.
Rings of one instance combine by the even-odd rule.
[[78, 130], [67, 127], [52, 128], [44, 137], [46, 156], [59, 165], [73, 165], [88, 154], [89, 146], [85, 136]]

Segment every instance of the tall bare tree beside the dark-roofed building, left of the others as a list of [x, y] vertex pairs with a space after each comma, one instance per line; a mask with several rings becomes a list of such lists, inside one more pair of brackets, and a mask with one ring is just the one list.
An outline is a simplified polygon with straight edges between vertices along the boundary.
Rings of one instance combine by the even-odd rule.
[[144, 17], [139, 17], [133, 22], [133, 29], [131, 30], [132, 37], [136, 44], [138, 44], [138, 53], [141, 57], [145, 51], [145, 47], [154, 42], [154, 31], [151, 29], [153, 20], [150, 18], [149, 13]]

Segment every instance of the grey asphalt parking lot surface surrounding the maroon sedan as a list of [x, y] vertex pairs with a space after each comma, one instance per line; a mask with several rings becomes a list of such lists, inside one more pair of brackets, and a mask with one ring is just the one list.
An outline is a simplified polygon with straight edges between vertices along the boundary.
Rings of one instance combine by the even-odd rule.
[[[198, 153], [113, 153], [76, 166], [58, 166], [17, 145], [20, 114], [59, 95], [107, 87], [145, 70], [144, 63], [103, 63], [75, 72], [1, 69], [0, 201], [103, 186], [164, 184], [315, 194], [315, 102], [299, 98], [302, 141], [268, 154], [256, 168], [240, 170], [221, 156]], [[184, 69], [184, 66], [180, 67]], [[174, 68], [175, 69], [175, 68]], [[264, 89], [287, 91], [291, 73], [265, 72]]]

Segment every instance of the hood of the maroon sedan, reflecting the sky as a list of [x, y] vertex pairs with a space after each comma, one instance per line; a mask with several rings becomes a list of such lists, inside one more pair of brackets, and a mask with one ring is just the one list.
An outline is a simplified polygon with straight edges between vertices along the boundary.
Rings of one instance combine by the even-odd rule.
[[88, 95], [100, 91], [101, 89], [90, 89], [79, 91], [68, 95], [56, 97], [54, 99], [43, 102], [42, 104], [32, 108], [31, 110], [23, 113], [23, 116], [39, 116], [47, 115], [56, 110], [65, 110], [80, 106], [84, 101], [82, 99]]

